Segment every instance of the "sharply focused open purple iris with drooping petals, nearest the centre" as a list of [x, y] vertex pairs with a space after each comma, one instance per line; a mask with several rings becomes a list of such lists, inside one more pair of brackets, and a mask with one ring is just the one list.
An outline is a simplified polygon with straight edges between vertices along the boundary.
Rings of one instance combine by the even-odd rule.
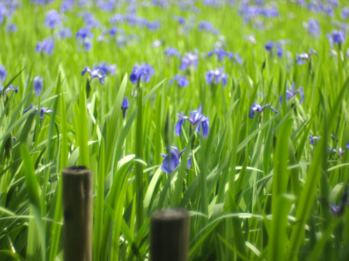
[[191, 125], [195, 126], [195, 131], [199, 134], [202, 130], [202, 137], [205, 139], [209, 134], [209, 119], [202, 115], [201, 106], [198, 110], [191, 111], [191, 117], [183, 116], [183, 111], [181, 114], [177, 113], [179, 120], [174, 127], [174, 132], [176, 132], [177, 136], [181, 136], [181, 127], [183, 126], [184, 120], [188, 120], [191, 122]]

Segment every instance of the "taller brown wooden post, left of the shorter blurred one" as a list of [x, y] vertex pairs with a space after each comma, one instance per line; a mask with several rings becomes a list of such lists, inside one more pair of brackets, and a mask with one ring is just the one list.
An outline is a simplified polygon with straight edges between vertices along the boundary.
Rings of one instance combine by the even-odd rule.
[[64, 261], [92, 261], [92, 171], [64, 168]]

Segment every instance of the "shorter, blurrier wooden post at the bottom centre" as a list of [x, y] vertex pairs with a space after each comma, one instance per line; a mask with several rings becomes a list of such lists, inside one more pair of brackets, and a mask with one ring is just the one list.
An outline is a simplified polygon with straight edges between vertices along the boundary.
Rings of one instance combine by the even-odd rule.
[[187, 261], [189, 214], [184, 209], [165, 209], [151, 215], [150, 260]]

